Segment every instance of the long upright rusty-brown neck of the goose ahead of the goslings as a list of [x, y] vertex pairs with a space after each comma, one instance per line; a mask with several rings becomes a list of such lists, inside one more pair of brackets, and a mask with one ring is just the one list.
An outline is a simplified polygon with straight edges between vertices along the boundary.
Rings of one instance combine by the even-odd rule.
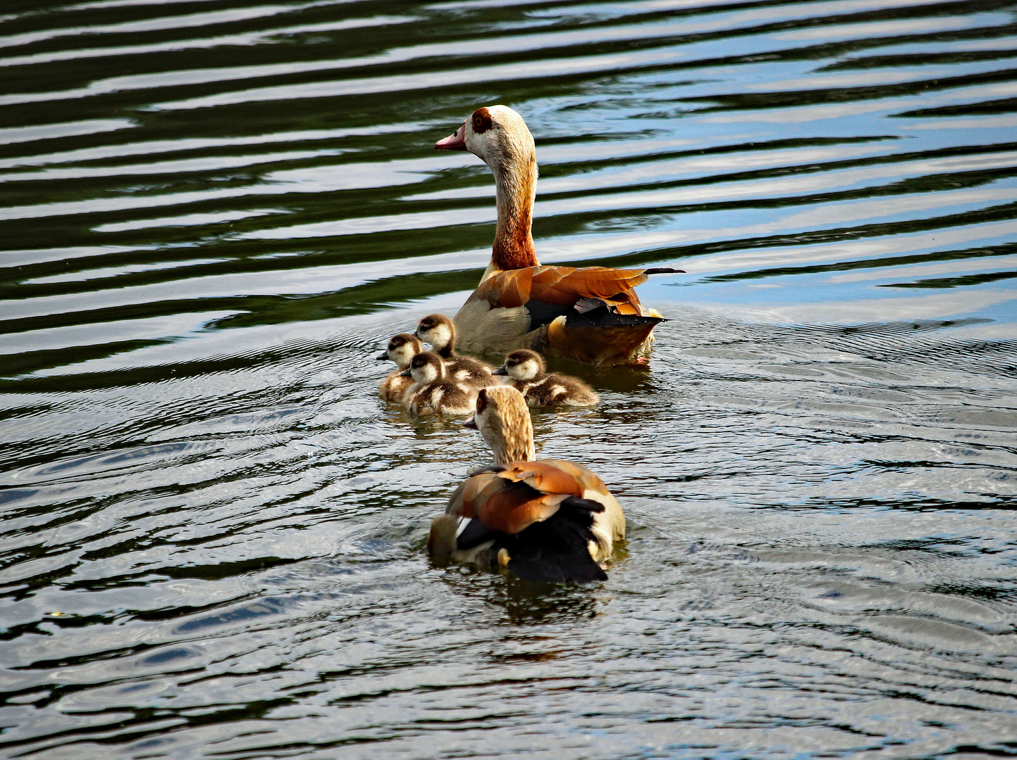
[[533, 200], [537, 195], [537, 159], [506, 161], [491, 167], [497, 192], [498, 224], [494, 232], [491, 264], [484, 280], [505, 270], [539, 267], [533, 249]]

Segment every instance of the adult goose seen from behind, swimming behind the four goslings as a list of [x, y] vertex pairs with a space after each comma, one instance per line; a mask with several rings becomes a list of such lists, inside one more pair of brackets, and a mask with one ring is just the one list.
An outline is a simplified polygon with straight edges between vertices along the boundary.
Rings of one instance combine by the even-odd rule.
[[484, 388], [476, 414], [494, 466], [471, 473], [431, 524], [427, 542], [438, 562], [507, 570], [524, 580], [607, 578], [598, 563], [625, 535], [621, 506], [600, 478], [575, 462], [534, 461], [533, 423], [522, 394]]

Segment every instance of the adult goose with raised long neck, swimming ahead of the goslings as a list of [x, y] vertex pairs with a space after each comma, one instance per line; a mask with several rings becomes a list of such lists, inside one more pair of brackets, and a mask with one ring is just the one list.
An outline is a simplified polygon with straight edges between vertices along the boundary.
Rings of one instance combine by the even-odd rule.
[[536, 149], [523, 117], [507, 106], [478, 108], [434, 147], [483, 160], [497, 194], [491, 262], [454, 319], [460, 349], [505, 354], [534, 348], [591, 364], [624, 364], [649, 354], [662, 317], [640, 304], [635, 288], [648, 275], [681, 270], [541, 267], [530, 232]]

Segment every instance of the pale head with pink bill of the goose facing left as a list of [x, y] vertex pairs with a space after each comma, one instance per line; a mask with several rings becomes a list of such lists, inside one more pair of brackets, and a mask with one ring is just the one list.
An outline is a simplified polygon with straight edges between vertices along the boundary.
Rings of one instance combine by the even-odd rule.
[[523, 117], [508, 106], [483, 106], [455, 134], [434, 145], [439, 151], [469, 151], [492, 171], [537, 164], [533, 135]]

